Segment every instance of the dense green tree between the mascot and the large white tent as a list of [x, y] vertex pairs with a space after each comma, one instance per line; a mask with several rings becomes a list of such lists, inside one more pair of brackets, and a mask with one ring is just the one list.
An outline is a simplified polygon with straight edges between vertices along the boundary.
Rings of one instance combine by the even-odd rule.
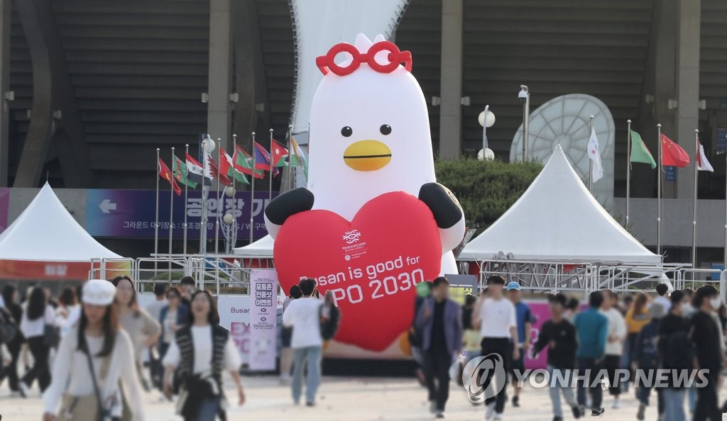
[[542, 163], [502, 160], [436, 160], [437, 181], [454, 193], [465, 210], [467, 227], [479, 234], [523, 195]]

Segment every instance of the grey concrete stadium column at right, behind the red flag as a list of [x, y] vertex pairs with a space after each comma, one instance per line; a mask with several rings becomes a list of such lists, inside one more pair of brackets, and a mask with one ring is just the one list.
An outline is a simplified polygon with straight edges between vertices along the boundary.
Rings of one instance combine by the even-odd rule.
[[690, 155], [692, 164], [677, 176], [678, 199], [694, 198], [694, 129], [699, 128], [699, 33], [702, 0], [678, 0], [676, 100], [677, 141]]

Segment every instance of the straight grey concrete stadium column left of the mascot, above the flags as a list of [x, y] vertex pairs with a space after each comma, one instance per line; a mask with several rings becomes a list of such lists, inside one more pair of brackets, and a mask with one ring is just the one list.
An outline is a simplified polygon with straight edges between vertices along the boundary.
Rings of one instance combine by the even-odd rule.
[[209, 0], [209, 70], [207, 76], [207, 133], [230, 149], [232, 87], [232, 10], [230, 0]]

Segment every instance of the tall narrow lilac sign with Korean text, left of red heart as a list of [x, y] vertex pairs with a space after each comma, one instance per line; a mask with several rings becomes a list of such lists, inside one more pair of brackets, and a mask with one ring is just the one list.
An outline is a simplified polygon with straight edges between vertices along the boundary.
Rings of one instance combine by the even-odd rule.
[[252, 370], [276, 369], [276, 324], [278, 272], [254, 269], [250, 272], [250, 356]]

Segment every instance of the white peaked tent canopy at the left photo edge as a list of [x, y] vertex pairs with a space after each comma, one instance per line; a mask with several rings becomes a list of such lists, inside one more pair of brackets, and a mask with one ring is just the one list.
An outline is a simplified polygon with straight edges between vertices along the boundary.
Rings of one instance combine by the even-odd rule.
[[90, 262], [122, 258], [94, 240], [46, 183], [28, 208], [0, 234], [0, 259]]

